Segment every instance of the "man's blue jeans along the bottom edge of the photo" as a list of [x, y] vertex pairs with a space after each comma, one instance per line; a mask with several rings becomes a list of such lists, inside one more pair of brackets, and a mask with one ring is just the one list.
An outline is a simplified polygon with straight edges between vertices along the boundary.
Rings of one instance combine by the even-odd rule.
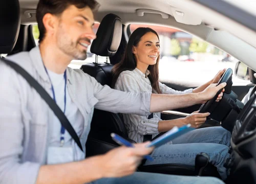
[[102, 178], [93, 184], [224, 184], [214, 177], [176, 176], [158, 173], [135, 172], [130, 176], [120, 178]]

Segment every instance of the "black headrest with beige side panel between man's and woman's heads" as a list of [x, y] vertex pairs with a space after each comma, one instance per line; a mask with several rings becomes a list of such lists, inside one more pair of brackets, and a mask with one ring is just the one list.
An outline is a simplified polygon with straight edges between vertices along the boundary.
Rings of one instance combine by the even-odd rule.
[[122, 37], [122, 21], [115, 14], [108, 14], [101, 20], [91, 53], [100, 56], [114, 56]]

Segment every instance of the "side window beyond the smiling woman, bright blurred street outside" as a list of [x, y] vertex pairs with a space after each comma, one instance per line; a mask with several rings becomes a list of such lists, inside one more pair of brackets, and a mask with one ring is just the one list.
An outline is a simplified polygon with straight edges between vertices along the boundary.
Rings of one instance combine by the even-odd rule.
[[[159, 79], [162, 82], [199, 86], [223, 68], [234, 68], [238, 60], [206, 41], [183, 31], [163, 27], [131, 24], [131, 33], [139, 27], [150, 27], [159, 35]], [[250, 81], [233, 75], [233, 85], [247, 85]]]

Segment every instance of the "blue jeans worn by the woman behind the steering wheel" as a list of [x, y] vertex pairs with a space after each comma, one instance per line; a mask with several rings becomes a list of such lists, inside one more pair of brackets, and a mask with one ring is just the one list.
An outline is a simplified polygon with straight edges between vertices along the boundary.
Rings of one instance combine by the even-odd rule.
[[229, 156], [231, 134], [222, 127], [207, 127], [190, 131], [177, 137], [173, 144], [165, 144], [156, 148], [152, 157], [145, 165], [155, 164], [185, 164], [195, 166], [196, 155], [200, 152], [207, 153], [210, 163], [217, 167], [222, 177], [226, 179], [226, 168], [223, 166]]

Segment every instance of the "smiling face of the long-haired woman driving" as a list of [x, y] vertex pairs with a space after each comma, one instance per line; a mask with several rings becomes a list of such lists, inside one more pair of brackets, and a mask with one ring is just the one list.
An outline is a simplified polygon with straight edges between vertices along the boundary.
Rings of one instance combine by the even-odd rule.
[[133, 48], [137, 65], [154, 65], [160, 54], [160, 42], [155, 33], [148, 32], [141, 37], [137, 47]]

